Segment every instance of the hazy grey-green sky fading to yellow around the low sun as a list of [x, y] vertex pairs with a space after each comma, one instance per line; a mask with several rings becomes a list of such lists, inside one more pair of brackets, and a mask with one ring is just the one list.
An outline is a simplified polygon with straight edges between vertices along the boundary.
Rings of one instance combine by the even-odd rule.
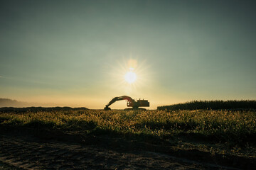
[[[255, 1], [0, 1], [0, 98], [101, 109], [256, 99]], [[125, 74], [136, 73], [133, 83]], [[110, 108], [126, 108], [118, 101]]]

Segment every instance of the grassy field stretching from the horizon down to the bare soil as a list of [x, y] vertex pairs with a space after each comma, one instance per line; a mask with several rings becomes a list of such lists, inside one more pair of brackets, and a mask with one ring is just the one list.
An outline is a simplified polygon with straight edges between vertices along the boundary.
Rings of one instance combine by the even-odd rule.
[[[47, 111], [0, 114], [1, 129], [44, 130], [85, 143], [256, 159], [255, 111]], [[75, 140], [75, 137], [73, 138]], [[60, 137], [61, 138], [61, 137]], [[65, 137], [64, 137], [65, 138]], [[107, 145], [107, 144], [106, 144]], [[154, 147], [150, 147], [154, 146]], [[188, 154], [190, 155], [190, 154]]]

